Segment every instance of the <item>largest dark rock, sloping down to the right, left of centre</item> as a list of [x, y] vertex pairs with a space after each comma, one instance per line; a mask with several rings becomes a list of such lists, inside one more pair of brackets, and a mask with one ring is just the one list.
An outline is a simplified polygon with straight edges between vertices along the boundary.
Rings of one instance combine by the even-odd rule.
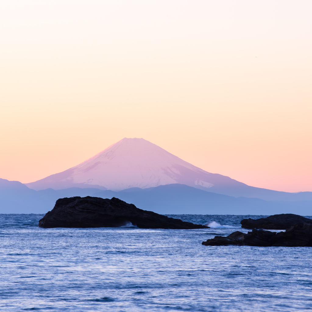
[[142, 210], [115, 197], [90, 196], [58, 199], [54, 208], [39, 220], [39, 227], [120, 227], [130, 222], [139, 228], [208, 228]]

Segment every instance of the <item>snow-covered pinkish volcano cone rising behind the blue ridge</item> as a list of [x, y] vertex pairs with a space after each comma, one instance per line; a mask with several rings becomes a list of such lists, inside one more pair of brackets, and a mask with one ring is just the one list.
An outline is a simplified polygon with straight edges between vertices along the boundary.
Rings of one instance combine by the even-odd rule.
[[34, 190], [74, 187], [120, 191], [176, 183], [234, 197], [275, 201], [312, 199], [311, 192], [295, 194], [255, 188], [221, 174], [209, 173], [138, 138], [124, 138], [75, 167], [26, 185]]

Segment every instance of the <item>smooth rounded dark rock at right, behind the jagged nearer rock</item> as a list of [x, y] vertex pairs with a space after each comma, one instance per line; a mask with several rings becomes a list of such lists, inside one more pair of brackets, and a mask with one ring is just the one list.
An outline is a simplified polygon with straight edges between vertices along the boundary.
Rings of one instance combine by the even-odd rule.
[[241, 220], [241, 227], [244, 229], [285, 230], [296, 223], [303, 222], [312, 223], [312, 220], [292, 213], [282, 213], [256, 220], [243, 219]]

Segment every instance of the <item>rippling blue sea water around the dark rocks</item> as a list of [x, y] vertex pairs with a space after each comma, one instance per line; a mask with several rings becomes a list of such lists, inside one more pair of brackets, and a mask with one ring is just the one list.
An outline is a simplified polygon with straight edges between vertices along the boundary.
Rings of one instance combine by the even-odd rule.
[[[1, 311], [312, 310], [312, 248], [203, 246], [243, 218], [171, 215], [209, 229], [43, 229], [0, 215]], [[312, 218], [312, 217], [311, 217]]]

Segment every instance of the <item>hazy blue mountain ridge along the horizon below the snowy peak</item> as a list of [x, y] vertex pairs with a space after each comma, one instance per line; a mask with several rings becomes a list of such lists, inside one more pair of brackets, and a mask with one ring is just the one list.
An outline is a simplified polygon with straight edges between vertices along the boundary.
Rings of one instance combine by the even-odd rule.
[[97, 188], [66, 188], [35, 191], [17, 181], [0, 179], [0, 213], [46, 213], [57, 199], [73, 196], [117, 197], [138, 208], [161, 214], [263, 214], [311, 215], [312, 201], [268, 202], [259, 198], [232, 197], [206, 192], [184, 184], [122, 191]]

